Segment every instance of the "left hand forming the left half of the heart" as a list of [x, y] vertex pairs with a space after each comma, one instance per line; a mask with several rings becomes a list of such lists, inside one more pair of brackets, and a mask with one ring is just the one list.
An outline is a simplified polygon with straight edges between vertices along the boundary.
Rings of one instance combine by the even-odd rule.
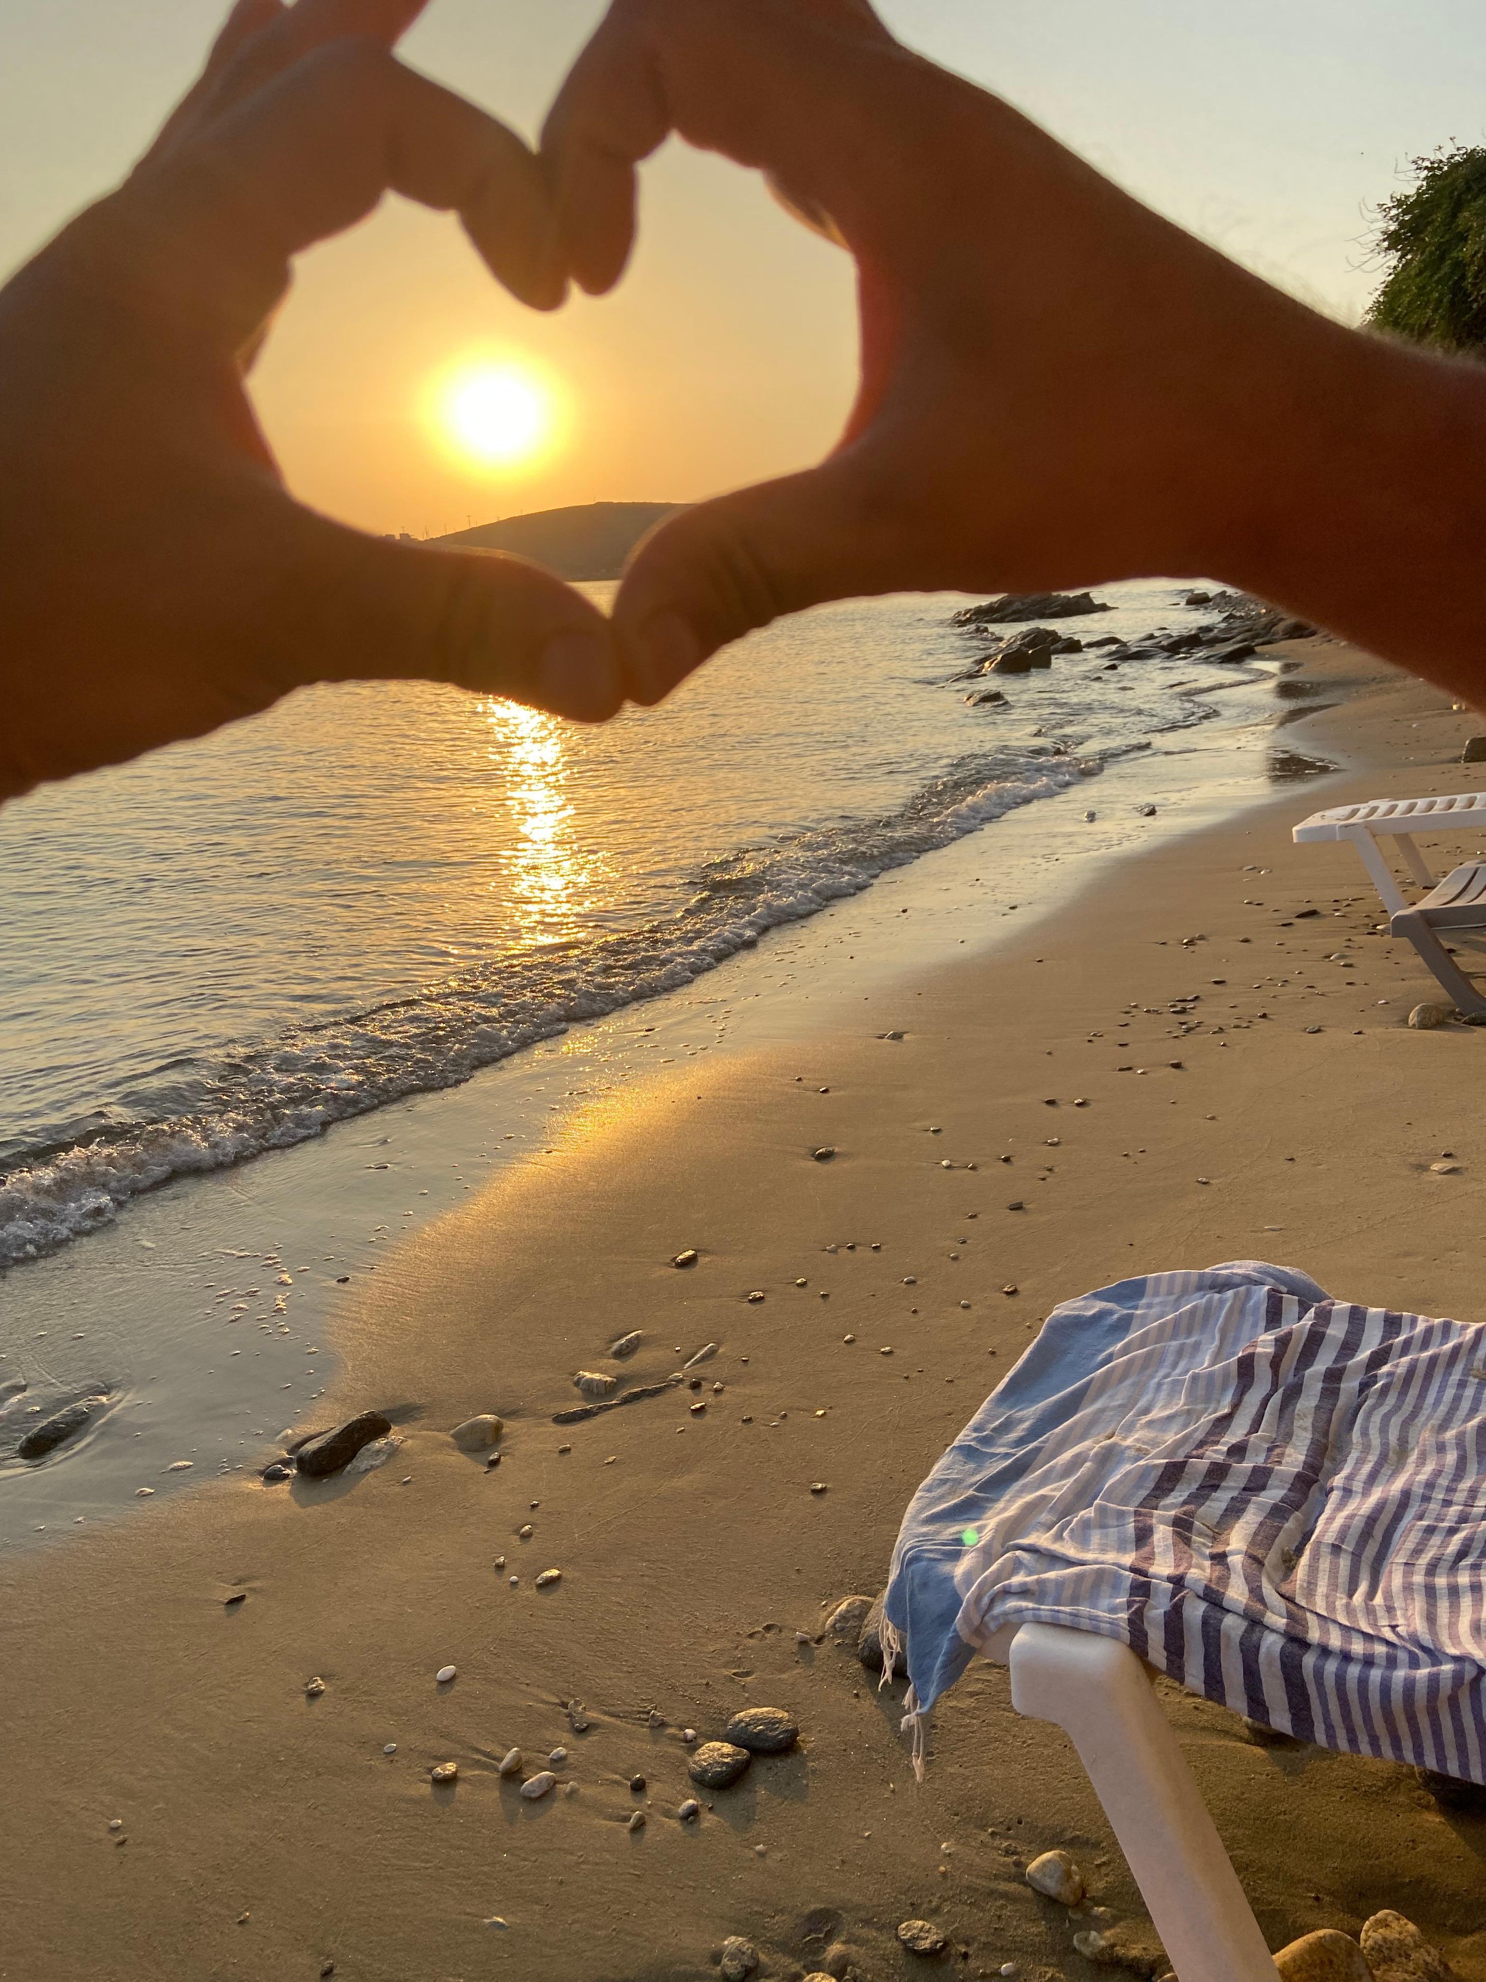
[[561, 303], [527, 147], [390, 54], [424, 0], [238, 0], [131, 178], [0, 289], [0, 799], [307, 682], [418, 676], [598, 719], [602, 616], [515, 559], [285, 492], [244, 373], [289, 258], [394, 188]]

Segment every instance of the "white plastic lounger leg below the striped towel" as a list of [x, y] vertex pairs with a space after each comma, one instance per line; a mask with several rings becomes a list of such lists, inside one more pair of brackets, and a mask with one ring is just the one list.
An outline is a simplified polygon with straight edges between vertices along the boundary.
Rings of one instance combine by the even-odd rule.
[[1276, 1982], [1238, 1875], [1155, 1699], [1112, 1637], [1024, 1623], [1010, 1643], [1018, 1714], [1078, 1748], [1179, 1982]]

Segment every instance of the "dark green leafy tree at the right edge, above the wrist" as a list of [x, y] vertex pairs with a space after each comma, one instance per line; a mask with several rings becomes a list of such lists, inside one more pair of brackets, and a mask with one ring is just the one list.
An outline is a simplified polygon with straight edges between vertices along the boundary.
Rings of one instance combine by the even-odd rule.
[[1442, 351], [1486, 353], [1486, 149], [1440, 149], [1413, 170], [1415, 182], [1379, 208], [1387, 274], [1367, 321]]

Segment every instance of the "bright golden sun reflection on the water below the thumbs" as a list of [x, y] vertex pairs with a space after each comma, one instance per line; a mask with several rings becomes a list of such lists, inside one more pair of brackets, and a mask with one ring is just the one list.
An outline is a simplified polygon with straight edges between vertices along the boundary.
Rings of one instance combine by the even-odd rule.
[[579, 928], [594, 880], [592, 862], [573, 844], [573, 765], [563, 725], [519, 702], [485, 704], [485, 719], [515, 828], [503, 862], [509, 914], [527, 943], [563, 941]]

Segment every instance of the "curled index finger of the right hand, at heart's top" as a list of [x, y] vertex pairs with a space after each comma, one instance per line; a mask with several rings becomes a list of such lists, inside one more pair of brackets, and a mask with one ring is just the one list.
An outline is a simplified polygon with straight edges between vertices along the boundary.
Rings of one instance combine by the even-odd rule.
[[541, 139], [575, 279], [592, 293], [618, 279], [634, 168], [670, 131], [763, 166], [806, 224], [836, 234], [822, 194], [850, 186], [872, 143], [864, 75], [884, 57], [907, 59], [866, 0], [614, 0]]

